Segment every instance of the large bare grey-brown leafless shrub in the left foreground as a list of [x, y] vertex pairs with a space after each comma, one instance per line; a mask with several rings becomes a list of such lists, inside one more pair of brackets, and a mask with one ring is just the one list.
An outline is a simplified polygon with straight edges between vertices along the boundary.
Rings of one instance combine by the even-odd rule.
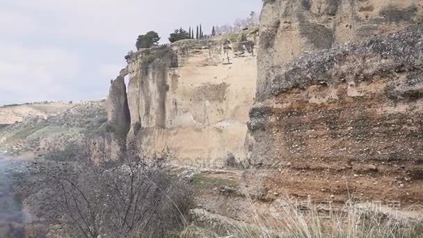
[[165, 237], [184, 228], [191, 189], [168, 174], [168, 152], [147, 158], [122, 150], [118, 161], [102, 164], [89, 159], [89, 149], [78, 154], [33, 166], [26, 201], [46, 223], [87, 238]]

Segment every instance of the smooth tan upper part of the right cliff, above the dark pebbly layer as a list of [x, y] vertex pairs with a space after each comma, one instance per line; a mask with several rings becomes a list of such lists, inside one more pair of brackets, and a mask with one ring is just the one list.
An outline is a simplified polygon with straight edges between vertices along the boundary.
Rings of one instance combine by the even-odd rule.
[[260, 18], [257, 98], [264, 74], [306, 51], [329, 49], [422, 22], [420, 0], [266, 0]]

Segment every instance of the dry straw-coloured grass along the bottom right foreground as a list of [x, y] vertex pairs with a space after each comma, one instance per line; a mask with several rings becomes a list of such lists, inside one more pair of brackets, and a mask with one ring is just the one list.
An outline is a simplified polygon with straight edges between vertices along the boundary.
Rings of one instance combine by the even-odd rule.
[[[253, 223], [222, 221], [205, 226], [191, 225], [180, 237], [280, 237], [280, 238], [418, 238], [423, 237], [422, 221], [405, 221], [366, 209], [345, 206], [333, 212], [317, 207], [301, 211], [298, 203], [284, 200], [280, 209], [257, 211], [250, 200]], [[275, 213], [276, 212], [276, 213]]]

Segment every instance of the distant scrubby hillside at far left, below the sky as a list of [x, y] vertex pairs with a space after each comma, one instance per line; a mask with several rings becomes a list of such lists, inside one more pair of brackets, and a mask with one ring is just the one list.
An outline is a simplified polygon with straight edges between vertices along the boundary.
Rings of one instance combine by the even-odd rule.
[[42, 156], [48, 150], [63, 149], [107, 120], [104, 101], [24, 104], [1, 111], [2, 115], [19, 111], [22, 119], [0, 128], [0, 150], [11, 156]]

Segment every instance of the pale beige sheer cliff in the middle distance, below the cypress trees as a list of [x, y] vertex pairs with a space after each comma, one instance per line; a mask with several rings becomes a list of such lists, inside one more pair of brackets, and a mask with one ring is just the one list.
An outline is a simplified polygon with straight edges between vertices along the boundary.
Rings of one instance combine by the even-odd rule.
[[257, 80], [254, 33], [141, 49], [127, 68], [128, 138], [143, 150], [168, 147], [177, 162], [198, 166], [218, 166], [228, 153], [244, 159]]

